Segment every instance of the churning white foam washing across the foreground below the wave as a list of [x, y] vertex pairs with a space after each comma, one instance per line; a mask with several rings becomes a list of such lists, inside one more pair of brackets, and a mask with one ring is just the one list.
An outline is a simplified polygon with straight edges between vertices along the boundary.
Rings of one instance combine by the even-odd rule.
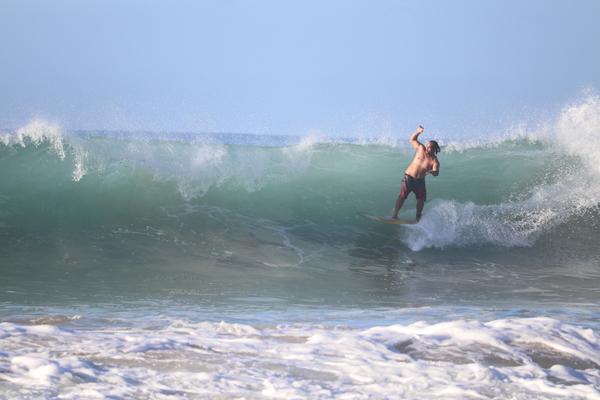
[[599, 334], [551, 318], [131, 326], [0, 324], [0, 395], [600, 399]]

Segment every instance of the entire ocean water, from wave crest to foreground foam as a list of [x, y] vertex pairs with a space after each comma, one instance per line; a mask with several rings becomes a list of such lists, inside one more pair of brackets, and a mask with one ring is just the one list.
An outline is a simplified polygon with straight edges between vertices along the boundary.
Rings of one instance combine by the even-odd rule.
[[0, 398], [600, 399], [600, 99], [409, 135], [0, 131]]

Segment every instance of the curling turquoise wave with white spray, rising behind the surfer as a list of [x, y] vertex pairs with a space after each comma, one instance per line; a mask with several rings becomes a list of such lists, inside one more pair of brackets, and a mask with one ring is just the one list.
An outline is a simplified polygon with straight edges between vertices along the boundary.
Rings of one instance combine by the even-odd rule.
[[[591, 96], [544, 129], [442, 142], [442, 173], [428, 178], [424, 217], [402, 241], [412, 250], [523, 247], [557, 226], [597, 224], [599, 135]], [[248, 229], [312, 224], [315, 238], [344, 242], [369, 229], [357, 211], [389, 212], [411, 157], [388, 138], [65, 132], [33, 121], [0, 134], [0, 228], [177, 231], [190, 210], [219, 209]], [[212, 229], [200, 221], [187, 225]]]

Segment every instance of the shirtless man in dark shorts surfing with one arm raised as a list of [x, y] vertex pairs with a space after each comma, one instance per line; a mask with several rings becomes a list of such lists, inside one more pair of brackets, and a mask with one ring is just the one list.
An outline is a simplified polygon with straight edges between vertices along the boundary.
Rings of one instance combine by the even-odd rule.
[[427, 192], [425, 190], [425, 175], [431, 174], [438, 176], [440, 173], [440, 162], [436, 154], [440, 151], [440, 146], [435, 140], [430, 140], [426, 145], [419, 142], [418, 137], [425, 128], [421, 125], [415, 130], [410, 137], [410, 144], [415, 148], [417, 153], [404, 172], [404, 179], [400, 184], [400, 195], [396, 200], [394, 215], [392, 218], [398, 218], [398, 211], [404, 204], [404, 200], [410, 192], [415, 192], [417, 197], [417, 222], [421, 219]]

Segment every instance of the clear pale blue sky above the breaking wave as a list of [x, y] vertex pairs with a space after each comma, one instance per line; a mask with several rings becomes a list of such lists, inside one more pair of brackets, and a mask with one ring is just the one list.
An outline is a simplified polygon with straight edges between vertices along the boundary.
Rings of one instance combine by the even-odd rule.
[[504, 126], [600, 88], [598, 21], [598, 0], [0, 0], [0, 128]]

